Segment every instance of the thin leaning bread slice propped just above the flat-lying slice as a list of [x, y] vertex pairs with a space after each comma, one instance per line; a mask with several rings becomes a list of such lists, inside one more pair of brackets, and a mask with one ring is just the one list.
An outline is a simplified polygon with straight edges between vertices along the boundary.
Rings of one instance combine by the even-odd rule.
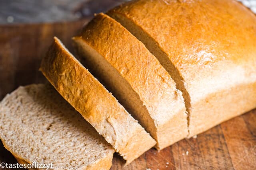
[[40, 70], [64, 99], [123, 156], [126, 164], [156, 144], [56, 37], [42, 59]]

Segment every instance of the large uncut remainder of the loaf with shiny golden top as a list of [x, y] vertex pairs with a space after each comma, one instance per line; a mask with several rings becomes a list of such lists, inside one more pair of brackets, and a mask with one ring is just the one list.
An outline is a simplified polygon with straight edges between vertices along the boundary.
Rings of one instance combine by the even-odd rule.
[[107, 14], [172, 76], [189, 137], [256, 107], [256, 16], [238, 2], [137, 0]]

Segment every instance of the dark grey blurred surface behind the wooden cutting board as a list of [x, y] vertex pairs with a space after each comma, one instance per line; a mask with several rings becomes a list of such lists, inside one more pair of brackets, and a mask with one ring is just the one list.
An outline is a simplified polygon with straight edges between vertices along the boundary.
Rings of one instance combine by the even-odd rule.
[[74, 21], [127, 0], [0, 0], [0, 24]]

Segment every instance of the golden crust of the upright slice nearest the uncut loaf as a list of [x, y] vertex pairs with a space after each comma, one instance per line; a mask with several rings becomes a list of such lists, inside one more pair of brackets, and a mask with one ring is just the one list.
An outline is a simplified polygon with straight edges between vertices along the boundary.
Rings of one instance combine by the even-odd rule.
[[141, 112], [135, 113], [136, 118], [158, 141], [158, 149], [187, 137], [186, 108], [181, 93], [168, 72], [136, 37], [102, 13], [86, 25], [81, 35], [74, 38], [75, 42], [81, 47], [88, 45], [102, 55], [138, 94], [155, 127], [148, 127], [149, 120], [143, 122], [141, 117], [145, 115], [140, 115]]

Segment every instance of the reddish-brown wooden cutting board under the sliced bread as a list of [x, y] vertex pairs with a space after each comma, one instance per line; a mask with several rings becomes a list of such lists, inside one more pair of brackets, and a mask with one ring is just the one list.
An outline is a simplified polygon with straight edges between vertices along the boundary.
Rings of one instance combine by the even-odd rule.
[[[72, 51], [70, 38], [87, 21], [0, 26], [0, 100], [20, 85], [46, 82], [38, 68], [53, 36]], [[0, 162], [16, 162], [1, 142]], [[254, 170], [256, 110], [226, 121], [195, 139], [184, 139], [160, 152], [151, 149], [124, 168], [122, 162], [115, 154], [112, 170]]]

